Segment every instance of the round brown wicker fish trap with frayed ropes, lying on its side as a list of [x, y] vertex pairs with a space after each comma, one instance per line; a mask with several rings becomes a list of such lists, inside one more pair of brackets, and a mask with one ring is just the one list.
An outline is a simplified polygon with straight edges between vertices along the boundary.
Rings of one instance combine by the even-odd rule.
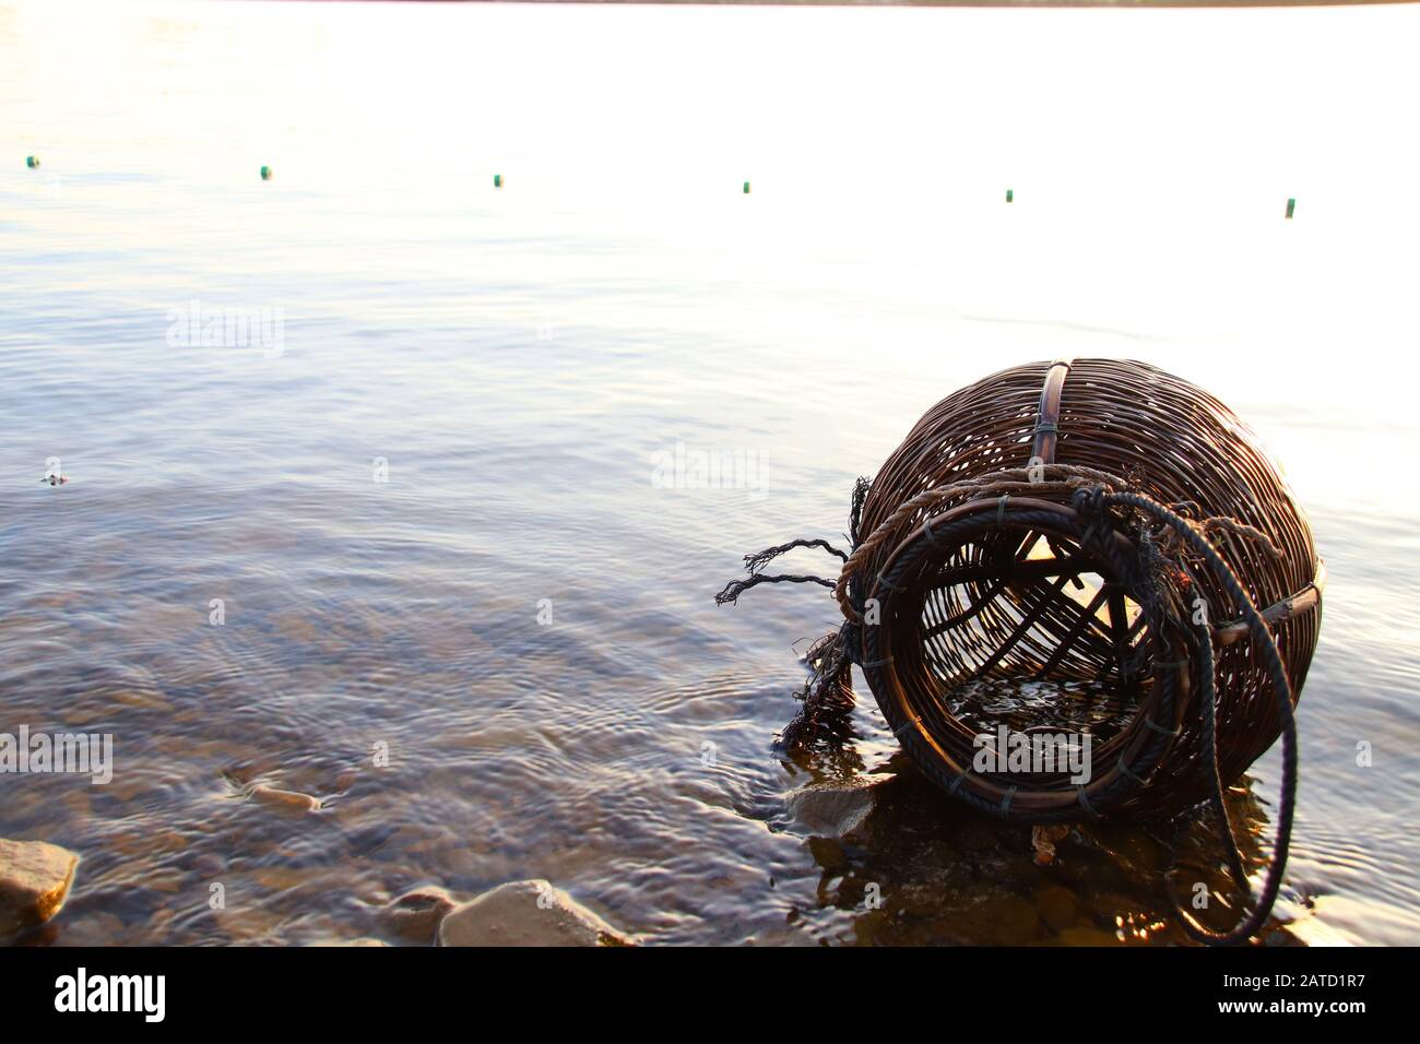
[[[835, 592], [843, 624], [809, 653], [785, 743], [842, 734], [858, 665], [913, 763], [985, 812], [1143, 820], [1211, 800], [1225, 822], [1223, 787], [1282, 736], [1285, 861], [1292, 707], [1325, 574], [1278, 466], [1216, 398], [1142, 362], [1001, 371], [927, 410], [859, 480], [849, 537], [848, 551], [797, 540], [748, 555], [717, 597]], [[839, 575], [764, 571], [795, 547], [838, 555]], [[1088, 736], [1088, 781], [983, 770], [1000, 724]]]

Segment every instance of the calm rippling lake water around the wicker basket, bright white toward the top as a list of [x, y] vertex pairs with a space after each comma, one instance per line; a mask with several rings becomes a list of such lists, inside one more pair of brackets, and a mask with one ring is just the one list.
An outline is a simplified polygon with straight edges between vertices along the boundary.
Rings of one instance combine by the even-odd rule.
[[[1420, 942], [1417, 33], [0, 1], [0, 732], [115, 737], [106, 787], [0, 776], [0, 837], [82, 855], [38, 942], [382, 935], [409, 886], [520, 878], [657, 943], [1179, 939], [1160, 831], [1035, 866], [862, 683], [841, 756], [777, 756], [836, 608], [711, 602], [838, 543], [933, 402], [1064, 355], [1187, 376], [1285, 462], [1331, 585], [1272, 940]], [[754, 480], [653, 483], [677, 446]], [[816, 780], [876, 784], [851, 839], [790, 814]]]

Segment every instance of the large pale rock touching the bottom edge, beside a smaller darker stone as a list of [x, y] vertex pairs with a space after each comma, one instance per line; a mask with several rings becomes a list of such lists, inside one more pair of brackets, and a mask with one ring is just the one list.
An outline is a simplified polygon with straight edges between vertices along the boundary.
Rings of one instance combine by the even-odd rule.
[[440, 946], [630, 946], [632, 940], [545, 881], [513, 881], [439, 922]]

